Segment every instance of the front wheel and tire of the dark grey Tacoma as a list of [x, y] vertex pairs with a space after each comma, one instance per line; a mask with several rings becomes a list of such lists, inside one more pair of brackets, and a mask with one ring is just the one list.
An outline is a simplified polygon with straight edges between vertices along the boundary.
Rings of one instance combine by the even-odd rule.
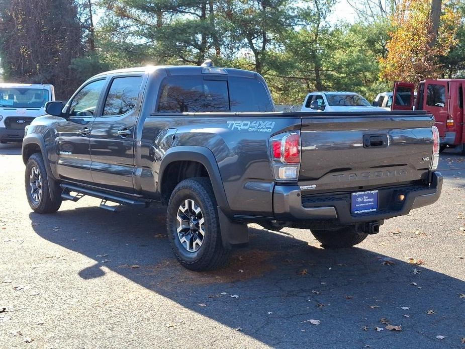
[[42, 154], [32, 154], [26, 164], [25, 187], [29, 206], [37, 213], [53, 213], [61, 206], [61, 197], [54, 195], [52, 200], [50, 191], [55, 190], [55, 183], [49, 183]]

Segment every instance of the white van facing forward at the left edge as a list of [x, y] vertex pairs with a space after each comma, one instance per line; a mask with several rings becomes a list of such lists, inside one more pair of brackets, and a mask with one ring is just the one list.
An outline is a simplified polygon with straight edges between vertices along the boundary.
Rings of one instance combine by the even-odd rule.
[[26, 125], [54, 100], [53, 85], [0, 83], [0, 143], [21, 142]]

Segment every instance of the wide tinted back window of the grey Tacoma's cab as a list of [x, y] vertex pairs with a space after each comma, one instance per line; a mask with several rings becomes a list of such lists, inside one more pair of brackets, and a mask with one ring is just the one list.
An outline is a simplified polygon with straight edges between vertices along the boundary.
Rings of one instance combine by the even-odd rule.
[[157, 112], [270, 112], [270, 98], [256, 79], [229, 77], [209, 80], [199, 75], [166, 77], [160, 89]]

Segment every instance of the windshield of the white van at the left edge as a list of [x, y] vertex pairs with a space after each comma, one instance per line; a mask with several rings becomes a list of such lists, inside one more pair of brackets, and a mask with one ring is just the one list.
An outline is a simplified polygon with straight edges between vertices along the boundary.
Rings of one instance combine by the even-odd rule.
[[41, 108], [48, 101], [48, 91], [44, 89], [0, 89], [0, 107]]

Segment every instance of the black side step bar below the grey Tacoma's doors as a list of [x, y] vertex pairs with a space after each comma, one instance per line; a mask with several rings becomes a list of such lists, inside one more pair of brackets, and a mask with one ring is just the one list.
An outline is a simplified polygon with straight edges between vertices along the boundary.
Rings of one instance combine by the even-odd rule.
[[[61, 189], [63, 192], [61, 193], [61, 198], [63, 200], [70, 200], [70, 201], [78, 201], [80, 198], [84, 197], [85, 195], [102, 199], [100, 207], [110, 211], [116, 211], [117, 207], [107, 205], [107, 202], [114, 202], [120, 205], [133, 205], [139, 207], [148, 207], [150, 205], [150, 200], [138, 200], [132, 198], [126, 198], [123, 196], [117, 196], [115, 194], [109, 194], [105, 192], [99, 192], [93, 189], [82, 188], [78, 186], [74, 186], [71, 184], [60, 184]], [[71, 192], [77, 193], [72, 195]]]

